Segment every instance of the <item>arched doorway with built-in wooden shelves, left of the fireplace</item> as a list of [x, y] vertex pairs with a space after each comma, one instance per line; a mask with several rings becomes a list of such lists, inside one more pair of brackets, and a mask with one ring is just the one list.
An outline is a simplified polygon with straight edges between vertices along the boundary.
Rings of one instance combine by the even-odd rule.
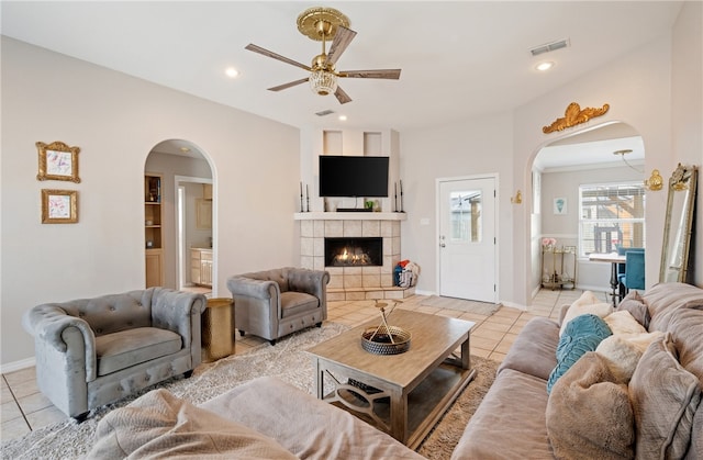
[[[216, 285], [216, 257], [213, 257], [216, 215], [213, 167], [208, 155], [192, 142], [167, 139], [152, 148], [144, 171], [145, 178], [152, 176], [159, 180], [158, 205], [149, 204], [148, 194], [145, 203], [147, 287], [159, 280], [156, 273], [160, 268], [158, 285], [211, 294]], [[149, 207], [160, 207], [158, 225], [157, 218], [147, 217]], [[158, 248], [153, 235], [158, 235]], [[196, 254], [202, 273], [194, 271], [191, 258]]]

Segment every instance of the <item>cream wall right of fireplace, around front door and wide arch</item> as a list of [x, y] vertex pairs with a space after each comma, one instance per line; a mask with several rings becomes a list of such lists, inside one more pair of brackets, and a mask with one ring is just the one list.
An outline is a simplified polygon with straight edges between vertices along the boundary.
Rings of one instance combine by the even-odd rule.
[[[691, 14], [689, 8], [693, 7], [687, 4], [681, 14]], [[700, 24], [693, 26], [688, 21], [687, 24], [684, 31], [678, 32], [674, 47], [689, 46], [689, 42], [701, 42]], [[534, 225], [531, 220], [531, 171], [532, 161], [542, 147], [579, 130], [620, 121], [641, 134], [646, 152], [645, 170], [650, 172], [656, 168], [662, 175], [670, 175], [673, 170], [672, 110], [677, 113], [682, 111], [692, 120], [700, 121], [702, 116], [700, 105], [677, 105], [672, 109], [671, 75], [684, 69], [672, 70], [671, 49], [671, 36], [662, 35], [659, 40], [517, 108], [512, 115], [488, 114], [465, 123], [401, 133], [401, 177], [409, 190], [405, 200], [409, 221], [403, 224], [402, 229], [402, 257], [417, 262], [423, 269], [417, 289], [431, 292], [436, 290], [436, 232], [434, 224], [421, 223], [423, 218], [429, 218], [434, 223], [436, 178], [478, 172], [499, 173], [499, 299], [509, 305], [526, 306], [532, 298], [533, 270], [529, 240], [529, 228]], [[689, 55], [685, 52], [685, 56], [690, 57]], [[700, 57], [695, 59], [700, 61]], [[700, 92], [700, 69], [693, 72], [692, 78], [687, 78], [685, 85], [698, 85], [699, 88], [692, 92]], [[571, 102], [578, 102], [582, 108], [609, 103], [611, 108], [605, 115], [579, 127], [544, 134], [542, 127], [563, 116]], [[674, 134], [678, 135], [679, 132]], [[678, 142], [692, 142], [698, 146], [695, 152], [700, 158], [700, 134], [698, 137], [693, 133], [682, 134], [682, 139]], [[523, 192], [523, 204], [511, 204], [510, 197], [518, 189]], [[648, 195], [647, 200], [646, 244], [651, 249], [647, 254], [647, 279], [656, 281], [663, 237], [666, 193]], [[699, 213], [699, 220], [700, 214], [702, 213]], [[703, 259], [701, 246], [698, 245], [698, 260]], [[700, 271], [696, 279], [700, 283]]]

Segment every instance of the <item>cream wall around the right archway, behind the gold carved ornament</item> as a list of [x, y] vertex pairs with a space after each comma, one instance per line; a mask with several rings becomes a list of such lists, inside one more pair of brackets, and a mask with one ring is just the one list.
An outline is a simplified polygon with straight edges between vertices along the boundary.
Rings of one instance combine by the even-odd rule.
[[[515, 278], [523, 283], [516, 293], [516, 303], [528, 305], [532, 294], [531, 242], [522, 228], [531, 223], [532, 202], [531, 167], [535, 155], [548, 143], [562, 138], [576, 131], [599, 126], [612, 121], [621, 121], [633, 126], [643, 137], [645, 145], [645, 170], [657, 168], [662, 175], [669, 170], [671, 156], [671, 98], [670, 98], [671, 40], [668, 35], [629, 53], [595, 71], [581, 76], [578, 80], [548, 96], [518, 108], [514, 124], [515, 180], [518, 188], [526, 190], [526, 204], [517, 210], [517, 228], [514, 238]], [[542, 127], [555, 119], [563, 116], [570, 102], [581, 108], [610, 104], [609, 112], [600, 117], [568, 128], [561, 133], [544, 134]], [[670, 172], [669, 172], [670, 173]], [[662, 240], [662, 215], [666, 193], [647, 195], [647, 280], [651, 284], [658, 279], [658, 267]], [[544, 232], [544, 228], [543, 228]], [[654, 281], [652, 281], [654, 280]]]

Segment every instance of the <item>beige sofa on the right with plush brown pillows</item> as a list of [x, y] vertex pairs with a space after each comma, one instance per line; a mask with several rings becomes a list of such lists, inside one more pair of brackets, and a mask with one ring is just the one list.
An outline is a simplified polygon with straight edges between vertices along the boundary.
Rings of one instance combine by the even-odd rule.
[[453, 459], [703, 459], [703, 290], [661, 283], [641, 296], [631, 293], [621, 306], [647, 332], [661, 333], [629, 382], [609, 375], [599, 368], [602, 355], [590, 351], [548, 394], [561, 329], [534, 318], [499, 367]]

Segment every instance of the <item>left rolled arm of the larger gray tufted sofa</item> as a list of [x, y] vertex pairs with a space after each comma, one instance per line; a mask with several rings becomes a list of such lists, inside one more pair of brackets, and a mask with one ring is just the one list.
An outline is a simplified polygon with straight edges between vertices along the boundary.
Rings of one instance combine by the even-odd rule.
[[69, 352], [65, 334], [70, 328], [77, 329], [82, 336], [85, 346], [86, 379], [88, 381], [96, 379], [96, 336], [87, 322], [67, 314], [64, 308], [55, 304], [43, 304], [24, 313], [22, 326], [34, 336], [35, 344], [42, 344], [64, 355]]

